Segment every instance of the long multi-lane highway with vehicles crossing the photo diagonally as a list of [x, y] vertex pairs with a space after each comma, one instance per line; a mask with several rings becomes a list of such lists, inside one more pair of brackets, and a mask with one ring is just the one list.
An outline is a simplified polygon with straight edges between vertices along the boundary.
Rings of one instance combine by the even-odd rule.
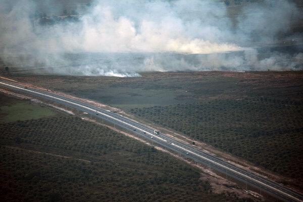
[[56, 95], [47, 91], [37, 90], [34, 88], [25, 88], [22, 85], [0, 80], [0, 86], [13, 89], [22, 93], [30, 94], [36, 97], [52, 100], [53, 102], [60, 103], [74, 109], [78, 109], [82, 112], [91, 114], [92, 116], [104, 119], [108, 122], [114, 123], [124, 129], [132, 131], [141, 137], [149, 139], [163, 147], [173, 150], [180, 155], [188, 157], [195, 162], [207, 165], [217, 171], [220, 171], [228, 176], [238, 179], [248, 185], [258, 188], [261, 192], [267, 192], [283, 201], [302, 201], [303, 195], [285, 187], [279, 183], [262, 177], [256, 173], [250, 172], [246, 169], [237, 167], [231, 163], [226, 162], [220, 158], [217, 158], [211, 154], [208, 154], [202, 150], [195, 148], [194, 146], [178, 141], [173, 137], [160, 133], [159, 135], [154, 133], [154, 128], [148, 127], [134, 120], [122, 117], [107, 110], [79, 102], [74, 99]]

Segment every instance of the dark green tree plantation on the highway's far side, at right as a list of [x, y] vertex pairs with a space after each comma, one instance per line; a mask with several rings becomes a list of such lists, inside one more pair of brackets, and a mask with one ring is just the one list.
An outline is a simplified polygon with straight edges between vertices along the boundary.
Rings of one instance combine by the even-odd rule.
[[132, 113], [257, 165], [303, 180], [300, 99], [258, 97], [132, 109]]

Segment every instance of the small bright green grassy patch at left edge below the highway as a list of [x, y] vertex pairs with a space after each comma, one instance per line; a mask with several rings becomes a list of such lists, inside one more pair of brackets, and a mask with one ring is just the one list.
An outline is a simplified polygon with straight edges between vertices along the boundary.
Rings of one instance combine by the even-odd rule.
[[57, 114], [44, 106], [31, 105], [29, 100], [23, 101], [0, 93], [0, 122], [39, 119]]

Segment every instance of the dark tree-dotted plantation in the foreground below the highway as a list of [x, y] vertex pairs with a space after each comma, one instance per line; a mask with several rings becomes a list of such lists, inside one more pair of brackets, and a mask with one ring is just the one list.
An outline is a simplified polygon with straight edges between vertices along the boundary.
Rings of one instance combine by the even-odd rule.
[[252, 201], [211, 193], [197, 169], [77, 117], [0, 123], [1, 200]]

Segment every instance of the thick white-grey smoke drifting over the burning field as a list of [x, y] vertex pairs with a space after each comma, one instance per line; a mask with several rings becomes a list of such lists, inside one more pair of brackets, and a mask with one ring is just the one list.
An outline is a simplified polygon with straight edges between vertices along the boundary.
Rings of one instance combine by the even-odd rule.
[[[41, 23], [64, 7], [56, 11], [45, 3], [4, 0], [0, 57], [5, 65], [57, 67], [54, 73], [92, 76], [303, 69], [302, 53], [261, 55], [256, 45], [277, 40], [293, 22], [302, 20], [300, 11], [287, 1], [248, 4], [236, 22], [227, 17], [220, 1], [95, 1], [79, 7], [79, 20]], [[37, 10], [46, 17], [37, 17]], [[283, 40], [296, 43], [301, 37]]]

